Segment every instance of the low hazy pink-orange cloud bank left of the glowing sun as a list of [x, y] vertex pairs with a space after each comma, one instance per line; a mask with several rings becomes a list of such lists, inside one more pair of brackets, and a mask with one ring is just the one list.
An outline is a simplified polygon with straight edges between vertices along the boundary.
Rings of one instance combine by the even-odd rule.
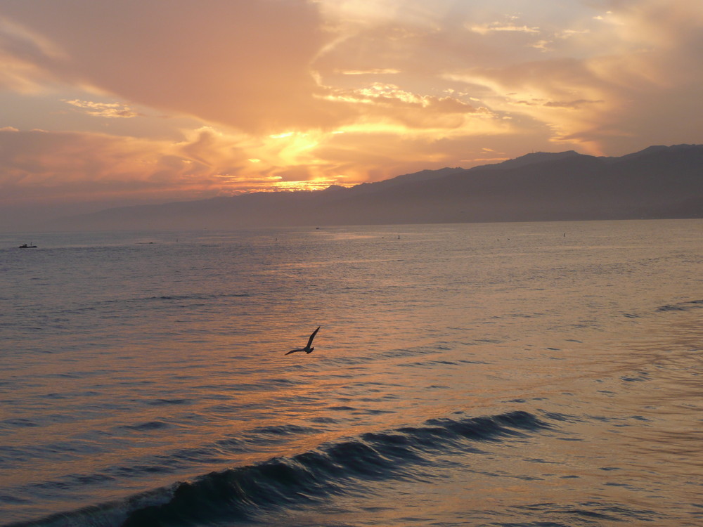
[[214, 170], [184, 145], [76, 132], [0, 130], [2, 200], [207, 193]]

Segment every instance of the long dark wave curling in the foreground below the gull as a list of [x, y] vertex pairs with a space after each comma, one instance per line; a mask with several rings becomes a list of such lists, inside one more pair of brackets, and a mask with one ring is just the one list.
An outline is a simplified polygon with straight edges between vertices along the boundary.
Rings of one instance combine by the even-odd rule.
[[[549, 427], [515, 411], [491, 417], [430, 419], [420, 427], [368, 432], [292, 457], [212, 472], [121, 502], [8, 527], [167, 527], [251, 520], [259, 513], [321, 502], [364, 481], [409, 477], [437, 450], [478, 453], [476, 443], [524, 437]], [[270, 434], [300, 433], [280, 427]]]

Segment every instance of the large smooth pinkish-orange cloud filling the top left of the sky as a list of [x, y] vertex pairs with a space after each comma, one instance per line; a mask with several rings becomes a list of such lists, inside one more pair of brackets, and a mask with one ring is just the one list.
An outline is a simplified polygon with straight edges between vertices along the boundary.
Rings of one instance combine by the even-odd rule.
[[27, 0], [3, 10], [28, 28], [24, 63], [57, 82], [250, 131], [324, 126], [337, 111], [314, 98], [309, 66], [325, 42], [314, 4]]

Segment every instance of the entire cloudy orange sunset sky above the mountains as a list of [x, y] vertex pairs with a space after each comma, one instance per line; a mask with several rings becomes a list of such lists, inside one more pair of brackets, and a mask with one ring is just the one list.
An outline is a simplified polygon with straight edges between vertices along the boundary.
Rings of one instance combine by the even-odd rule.
[[0, 0], [0, 229], [703, 143], [701, 0]]

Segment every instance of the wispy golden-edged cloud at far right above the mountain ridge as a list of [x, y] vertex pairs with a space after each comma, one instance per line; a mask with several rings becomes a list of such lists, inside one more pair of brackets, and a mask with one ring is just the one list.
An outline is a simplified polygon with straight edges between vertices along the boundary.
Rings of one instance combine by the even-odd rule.
[[[703, 82], [699, 4], [613, 2], [596, 23], [588, 32], [569, 34], [568, 43], [554, 42], [555, 58], [474, 67], [447, 77], [483, 86], [492, 110], [543, 122], [554, 142], [580, 143], [590, 153], [700, 141], [691, 126], [703, 118], [694, 102]], [[559, 57], [560, 45], [577, 46], [583, 56]]]

